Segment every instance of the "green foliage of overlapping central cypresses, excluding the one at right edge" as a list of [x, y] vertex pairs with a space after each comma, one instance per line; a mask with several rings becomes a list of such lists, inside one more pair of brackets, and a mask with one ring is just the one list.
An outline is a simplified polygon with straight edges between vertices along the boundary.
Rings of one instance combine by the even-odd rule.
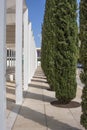
[[42, 68], [60, 103], [68, 103], [76, 95], [76, 9], [76, 0], [46, 0], [42, 27]]

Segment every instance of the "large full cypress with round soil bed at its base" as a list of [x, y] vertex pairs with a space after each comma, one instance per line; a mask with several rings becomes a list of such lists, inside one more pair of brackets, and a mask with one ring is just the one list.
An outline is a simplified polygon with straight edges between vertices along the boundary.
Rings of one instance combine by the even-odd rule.
[[55, 0], [55, 88], [60, 103], [76, 96], [78, 52], [76, 0]]

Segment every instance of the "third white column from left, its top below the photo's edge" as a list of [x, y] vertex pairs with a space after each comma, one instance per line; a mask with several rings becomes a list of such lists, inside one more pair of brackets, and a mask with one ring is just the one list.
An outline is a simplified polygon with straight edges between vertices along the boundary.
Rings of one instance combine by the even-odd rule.
[[24, 13], [24, 90], [28, 89], [28, 9]]

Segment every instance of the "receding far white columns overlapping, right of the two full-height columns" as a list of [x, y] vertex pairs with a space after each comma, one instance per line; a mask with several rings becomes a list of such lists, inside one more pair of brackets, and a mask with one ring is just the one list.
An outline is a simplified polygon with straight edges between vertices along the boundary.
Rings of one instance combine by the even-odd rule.
[[37, 50], [35, 46], [32, 24], [28, 21], [28, 10], [24, 13], [24, 90], [37, 68]]

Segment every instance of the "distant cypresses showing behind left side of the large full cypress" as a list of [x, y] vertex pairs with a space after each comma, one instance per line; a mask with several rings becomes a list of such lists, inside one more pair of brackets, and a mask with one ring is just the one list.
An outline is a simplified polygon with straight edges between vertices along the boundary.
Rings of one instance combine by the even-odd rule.
[[45, 68], [45, 73], [51, 89], [54, 89], [54, 5], [54, 0], [46, 1], [42, 28], [42, 66]]

